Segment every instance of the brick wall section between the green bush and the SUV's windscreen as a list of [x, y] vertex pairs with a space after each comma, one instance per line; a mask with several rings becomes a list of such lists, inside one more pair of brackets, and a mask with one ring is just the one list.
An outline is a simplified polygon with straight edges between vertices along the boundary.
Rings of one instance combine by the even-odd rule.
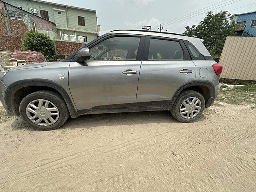
[[85, 44], [65, 41], [55, 41], [58, 54], [70, 55]]

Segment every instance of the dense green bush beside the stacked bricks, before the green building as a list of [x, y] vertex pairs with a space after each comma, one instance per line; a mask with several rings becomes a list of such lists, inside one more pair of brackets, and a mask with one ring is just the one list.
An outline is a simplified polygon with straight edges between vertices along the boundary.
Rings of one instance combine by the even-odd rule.
[[55, 52], [54, 42], [51, 41], [49, 36], [43, 33], [27, 32], [23, 38], [22, 46], [24, 50], [40, 51], [44, 54], [48, 62], [56, 61], [59, 58], [59, 54]]

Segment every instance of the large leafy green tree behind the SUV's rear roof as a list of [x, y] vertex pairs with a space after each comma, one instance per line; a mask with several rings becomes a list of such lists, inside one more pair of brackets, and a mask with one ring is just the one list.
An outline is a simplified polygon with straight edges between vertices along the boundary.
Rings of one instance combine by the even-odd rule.
[[234, 23], [230, 24], [231, 14], [227, 11], [206, 14], [197, 26], [186, 26], [184, 35], [204, 40], [204, 45], [213, 57], [220, 57], [227, 36], [235, 36]]

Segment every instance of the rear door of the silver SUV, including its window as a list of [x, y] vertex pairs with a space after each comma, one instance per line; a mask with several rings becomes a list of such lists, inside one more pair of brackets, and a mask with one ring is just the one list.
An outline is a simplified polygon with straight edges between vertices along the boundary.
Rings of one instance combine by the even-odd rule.
[[182, 40], [147, 37], [140, 69], [137, 106], [170, 106], [183, 84], [196, 77], [196, 66]]

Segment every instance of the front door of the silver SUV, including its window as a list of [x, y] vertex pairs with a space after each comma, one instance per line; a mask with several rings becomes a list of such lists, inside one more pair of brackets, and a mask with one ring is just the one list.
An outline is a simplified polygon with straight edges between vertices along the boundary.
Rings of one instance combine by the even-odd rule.
[[110, 37], [90, 48], [91, 58], [71, 62], [69, 86], [78, 110], [136, 106], [140, 37]]

